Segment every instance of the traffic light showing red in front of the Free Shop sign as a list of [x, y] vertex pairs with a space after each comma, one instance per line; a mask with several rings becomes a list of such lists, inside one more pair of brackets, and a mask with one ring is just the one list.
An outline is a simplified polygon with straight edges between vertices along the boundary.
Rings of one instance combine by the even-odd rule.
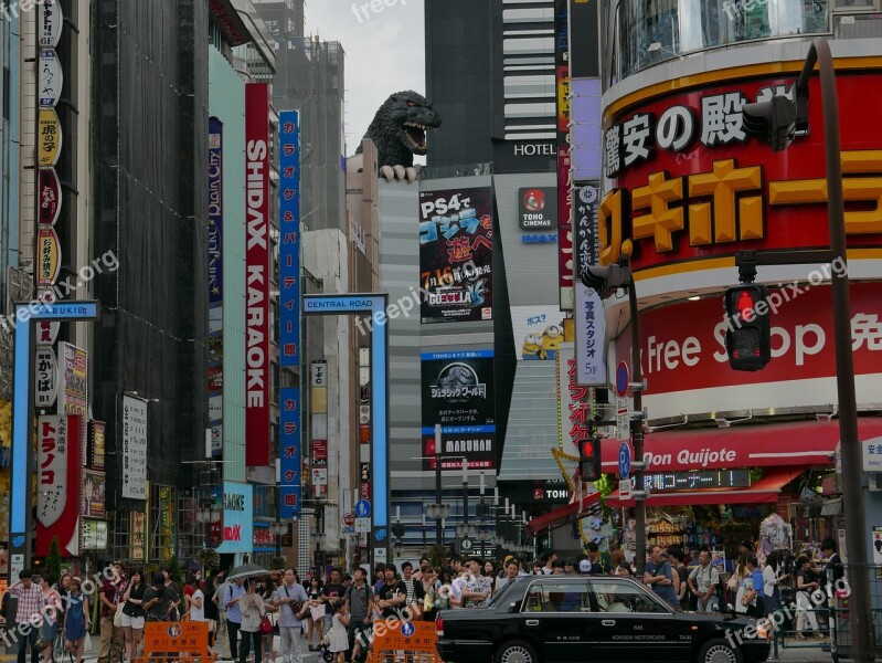
[[772, 320], [765, 285], [736, 285], [723, 302], [726, 354], [735, 370], [759, 370], [772, 359]]

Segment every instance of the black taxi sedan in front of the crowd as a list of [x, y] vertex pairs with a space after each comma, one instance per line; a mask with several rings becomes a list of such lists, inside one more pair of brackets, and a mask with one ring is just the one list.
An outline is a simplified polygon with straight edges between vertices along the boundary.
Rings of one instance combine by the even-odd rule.
[[754, 620], [674, 610], [616, 576], [518, 578], [488, 608], [442, 611], [435, 628], [447, 663], [756, 663], [769, 653]]

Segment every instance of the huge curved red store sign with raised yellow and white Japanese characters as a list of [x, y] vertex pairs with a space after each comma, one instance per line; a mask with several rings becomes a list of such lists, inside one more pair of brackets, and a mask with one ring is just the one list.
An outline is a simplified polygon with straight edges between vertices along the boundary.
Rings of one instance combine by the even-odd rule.
[[[794, 77], [738, 81], [656, 98], [605, 118], [602, 262], [634, 242], [635, 271], [741, 250], [829, 246], [820, 87], [809, 83], [811, 133], [773, 152], [747, 138], [743, 104], [791, 93]], [[849, 246], [882, 246], [879, 75], [840, 72]], [[562, 217], [563, 221], [563, 217]], [[710, 263], [709, 263], [710, 264]]]

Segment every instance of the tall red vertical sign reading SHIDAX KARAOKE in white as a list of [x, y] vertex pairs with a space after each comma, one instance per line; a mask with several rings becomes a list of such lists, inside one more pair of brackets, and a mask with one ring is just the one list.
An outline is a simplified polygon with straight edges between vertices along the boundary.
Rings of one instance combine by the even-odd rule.
[[245, 445], [269, 464], [269, 87], [245, 86]]

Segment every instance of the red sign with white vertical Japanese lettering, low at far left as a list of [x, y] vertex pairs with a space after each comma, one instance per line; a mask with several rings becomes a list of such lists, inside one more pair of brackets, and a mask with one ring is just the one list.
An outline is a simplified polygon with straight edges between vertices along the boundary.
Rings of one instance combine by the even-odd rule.
[[82, 419], [73, 414], [40, 417], [38, 425], [34, 555], [49, 555], [52, 537], [57, 536], [62, 556], [77, 557], [79, 540], [74, 535], [79, 518]]

